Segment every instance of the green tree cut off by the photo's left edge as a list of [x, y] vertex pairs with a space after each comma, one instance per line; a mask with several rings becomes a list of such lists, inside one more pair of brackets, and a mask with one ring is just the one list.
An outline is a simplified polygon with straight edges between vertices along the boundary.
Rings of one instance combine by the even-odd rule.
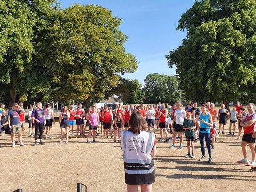
[[54, 10], [55, 0], [0, 1], [0, 99], [9, 106], [48, 88], [44, 67], [33, 58]]

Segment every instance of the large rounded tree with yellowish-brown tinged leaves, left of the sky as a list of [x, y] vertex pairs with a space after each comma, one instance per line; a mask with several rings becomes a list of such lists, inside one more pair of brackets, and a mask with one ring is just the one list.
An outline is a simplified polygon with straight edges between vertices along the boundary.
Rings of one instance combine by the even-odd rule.
[[106, 8], [77, 5], [58, 11], [49, 28], [46, 63], [53, 96], [98, 101], [118, 82], [118, 73], [134, 72], [137, 61], [125, 52], [121, 19]]

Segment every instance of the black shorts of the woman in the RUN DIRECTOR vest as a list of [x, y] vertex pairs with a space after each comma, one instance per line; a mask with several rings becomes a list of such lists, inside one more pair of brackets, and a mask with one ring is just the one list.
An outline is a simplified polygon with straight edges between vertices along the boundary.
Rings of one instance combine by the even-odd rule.
[[150, 174], [127, 174], [125, 183], [128, 185], [152, 184], [155, 182], [155, 170]]

